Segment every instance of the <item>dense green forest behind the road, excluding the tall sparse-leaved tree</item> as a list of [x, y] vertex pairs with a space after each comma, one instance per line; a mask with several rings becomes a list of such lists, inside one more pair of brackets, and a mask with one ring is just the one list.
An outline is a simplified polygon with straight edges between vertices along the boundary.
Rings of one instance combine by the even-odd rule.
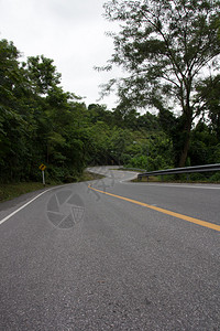
[[[77, 180], [88, 166], [124, 164], [147, 170], [178, 166], [182, 116], [157, 107], [154, 115], [119, 104], [88, 107], [62, 88], [53, 60], [0, 41], [0, 181]], [[186, 166], [220, 162], [220, 77], [197, 86], [202, 104], [190, 132]], [[207, 90], [209, 93], [207, 94]]]

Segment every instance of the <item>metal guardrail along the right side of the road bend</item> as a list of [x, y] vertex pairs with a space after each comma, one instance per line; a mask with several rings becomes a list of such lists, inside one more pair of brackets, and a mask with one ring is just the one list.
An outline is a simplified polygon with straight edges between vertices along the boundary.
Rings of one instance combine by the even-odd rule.
[[205, 164], [205, 166], [196, 166], [196, 167], [185, 167], [185, 168], [174, 168], [174, 169], [165, 169], [165, 170], [156, 170], [156, 171], [148, 171], [144, 173], [140, 173], [138, 179], [141, 180], [142, 177], [151, 175], [160, 175], [160, 174], [176, 174], [176, 173], [194, 173], [194, 172], [210, 172], [210, 171], [219, 171], [220, 163], [216, 164]]

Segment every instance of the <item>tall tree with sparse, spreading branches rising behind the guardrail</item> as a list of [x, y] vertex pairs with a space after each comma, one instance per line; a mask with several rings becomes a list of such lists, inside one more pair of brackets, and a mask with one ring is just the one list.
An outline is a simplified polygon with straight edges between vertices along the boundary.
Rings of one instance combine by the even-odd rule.
[[111, 34], [114, 53], [107, 66], [122, 66], [130, 74], [111, 79], [122, 104], [164, 108], [178, 103], [183, 145], [179, 167], [186, 162], [194, 117], [193, 95], [205, 67], [217, 65], [220, 1], [217, 0], [111, 0], [105, 3], [109, 21], [120, 21], [119, 33]]

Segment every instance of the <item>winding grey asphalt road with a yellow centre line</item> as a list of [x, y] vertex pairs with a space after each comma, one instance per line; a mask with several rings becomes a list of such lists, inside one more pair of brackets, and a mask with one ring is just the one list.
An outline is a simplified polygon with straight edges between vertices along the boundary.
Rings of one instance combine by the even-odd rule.
[[220, 185], [92, 170], [0, 204], [0, 330], [220, 330]]

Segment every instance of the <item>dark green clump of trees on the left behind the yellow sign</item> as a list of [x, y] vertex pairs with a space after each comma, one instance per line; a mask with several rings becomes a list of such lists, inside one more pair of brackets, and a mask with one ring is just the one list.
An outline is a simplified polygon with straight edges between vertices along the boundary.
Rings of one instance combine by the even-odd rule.
[[0, 41], [0, 182], [38, 180], [41, 162], [51, 179], [76, 178], [86, 167], [86, 106], [58, 86], [53, 60], [19, 56]]

